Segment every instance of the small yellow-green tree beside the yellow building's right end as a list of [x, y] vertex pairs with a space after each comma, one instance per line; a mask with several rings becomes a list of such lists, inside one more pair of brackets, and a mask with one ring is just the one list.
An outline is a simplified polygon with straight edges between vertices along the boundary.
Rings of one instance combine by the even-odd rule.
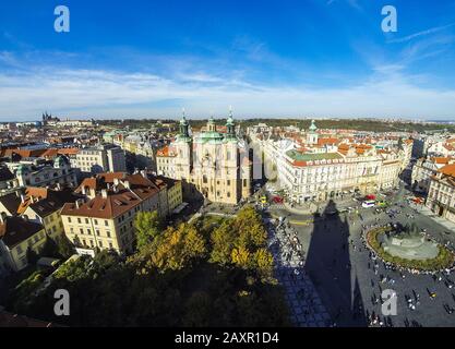
[[134, 219], [136, 230], [137, 250], [142, 251], [152, 243], [163, 231], [163, 221], [158, 212], [140, 212]]

